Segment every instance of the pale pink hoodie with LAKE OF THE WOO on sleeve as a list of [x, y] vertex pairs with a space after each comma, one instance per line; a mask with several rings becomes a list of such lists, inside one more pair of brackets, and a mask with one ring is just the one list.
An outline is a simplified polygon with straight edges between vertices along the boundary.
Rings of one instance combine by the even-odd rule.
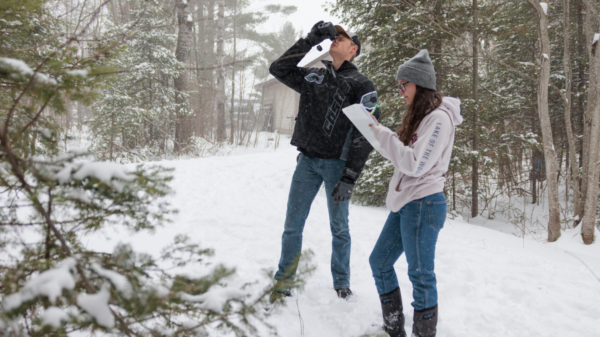
[[454, 145], [454, 127], [463, 122], [460, 100], [444, 97], [442, 104], [430, 112], [416, 128], [410, 146], [381, 124], [371, 131], [379, 141], [379, 153], [394, 164], [394, 176], [389, 182], [386, 206], [398, 212], [411, 200], [442, 192]]

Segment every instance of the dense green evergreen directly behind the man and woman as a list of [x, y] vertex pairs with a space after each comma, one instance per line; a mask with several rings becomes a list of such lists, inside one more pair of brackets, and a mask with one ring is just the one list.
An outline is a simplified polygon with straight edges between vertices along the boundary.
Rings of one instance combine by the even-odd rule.
[[[377, 89], [382, 115], [380, 123], [392, 130], [400, 126], [406, 106], [397, 94], [394, 79], [398, 65], [403, 64], [421, 49], [428, 49], [437, 71], [437, 89], [463, 99], [466, 77], [460, 60], [462, 52], [452, 32], [464, 22], [465, 11], [454, 1], [433, 1], [425, 4], [401, 1], [383, 4], [379, 1], [342, 1], [332, 9], [351, 23], [349, 29], [362, 37], [361, 56], [356, 58], [361, 73], [368, 76]], [[463, 56], [464, 58], [464, 56]], [[457, 143], [462, 143], [457, 130]], [[455, 157], [460, 153], [455, 152]], [[378, 152], [371, 152], [356, 188], [355, 198], [366, 204], [382, 205], [394, 167]]]

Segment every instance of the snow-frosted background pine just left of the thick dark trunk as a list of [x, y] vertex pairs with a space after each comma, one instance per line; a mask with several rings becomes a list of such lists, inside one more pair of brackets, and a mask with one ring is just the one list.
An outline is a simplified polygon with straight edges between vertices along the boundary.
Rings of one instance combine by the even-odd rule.
[[130, 4], [131, 22], [106, 35], [126, 31], [134, 37], [103, 62], [116, 74], [106, 78], [88, 121], [97, 158], [121, 163], [175, 154], [182, 141], [173, 137], [176, 123], [191, 113], [189, 100], [175, 99], [190, 93], [173, 85], [185, 65], [172, 52], [177, 36], [164, 28], [169, 18], [151, 2]]

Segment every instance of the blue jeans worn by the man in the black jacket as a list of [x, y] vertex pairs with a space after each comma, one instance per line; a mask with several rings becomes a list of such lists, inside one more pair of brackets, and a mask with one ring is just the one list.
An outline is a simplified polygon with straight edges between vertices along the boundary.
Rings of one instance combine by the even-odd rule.
[[[350, 230], [348, 228], [349, 201], [334, 206], [331, 192], [340, 181], [346, 161], [320, 159], [300, 155], [287, 197], [286, 222], [281, 236], [281, 258], [275, 279], [292, 278], [296, 274], [296, 259], [302, 250], [302, 231], [310, 205], [321, 184], [325, 182], [329, 227], [331, 228], [331, 275], [334, 288], [350, 287]], [[282, 291], [288, 292], [289, 290]]]

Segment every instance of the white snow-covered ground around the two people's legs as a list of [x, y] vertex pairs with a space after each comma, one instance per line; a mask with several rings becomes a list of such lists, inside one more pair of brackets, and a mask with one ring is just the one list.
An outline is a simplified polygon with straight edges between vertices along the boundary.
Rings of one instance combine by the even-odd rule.
[[[173, 223], [154, 234], [105, 230], [89, 237], [88, 249], [112, 251], [116, 243], [129, 242], [157, 256], [173, 236], [187, 234], [215, 249], [212, 261], [236, 267], [229, 285], [259, 281], [256, 287], [262, 288], [270, 282], [264, 270], [274, 271], [279, 260], [298, 153], [287, 143], [282, 138], [277, 150], [233, 149], [227, 157], [155, 163], [175, 168], [172, 204], [179, 213]], [[317, 269], [304, 291], [287, 298], [287, 306], [272, 310], [268, 321], [280, 336], [376, 332], [372, 324], [382, 322], [381, 309], [368, 256], [387, 215], [383, 207], [350, 204], [350, 282], [356, 297], [345, 302], [332, 289], [331, 232], [322, 189], [308, 216], [303, 246], [314, 252]], [[600, 336], [600, 279], [595, 276], [600, 275], [600, 244], [584, 246], [577, 228], [544, 244], [490, 226], [458, 218], [448, 220], [440, 231], [437, 336]], [[395, 267], [410, 332], [412, 287], [404, 257]]]

